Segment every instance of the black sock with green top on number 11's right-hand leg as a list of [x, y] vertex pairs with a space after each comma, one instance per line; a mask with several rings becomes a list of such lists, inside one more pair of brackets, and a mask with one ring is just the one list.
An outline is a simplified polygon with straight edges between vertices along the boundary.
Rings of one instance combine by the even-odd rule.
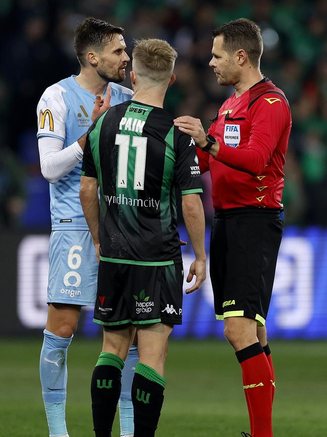
[[152, 367], [137, 363], [132, 384], [134, 437], [153, 437], [163, 403], [165, 378]]

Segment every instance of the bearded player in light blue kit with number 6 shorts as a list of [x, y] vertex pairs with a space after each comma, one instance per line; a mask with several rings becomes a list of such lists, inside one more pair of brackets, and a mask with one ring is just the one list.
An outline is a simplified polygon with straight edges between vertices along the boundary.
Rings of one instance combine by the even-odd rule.
[[[65, 423], [67, 348], [82, 306], [95, 304], [98, 263], [95, 246], [79, 202], [81, 159], [86, 132], [110, 106], [132, 91], [125, 79], [129, 57], [124, 30], [87, 18], [75, 31], [78, 76], [50, 86], [37, 108], [41, 171], [50, 182], [52, 233], [49, 245], [48, 319], [40, 357], [42, 395], [50, 437], [68, 437]], [[108, 85], [109, 84], [109, 85]], [[102, 97], [101, 97], [102, 96]], [[119, 403], [121, 435], [133, 435], [131, 383], [138, 360], [132, 345]]]

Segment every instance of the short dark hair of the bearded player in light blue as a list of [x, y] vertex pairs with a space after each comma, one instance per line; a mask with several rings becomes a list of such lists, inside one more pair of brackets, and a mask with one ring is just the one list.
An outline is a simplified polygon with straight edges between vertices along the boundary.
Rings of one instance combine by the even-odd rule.
[[124, 36], [124, 29], [93, 17], [85, 18], [78, 23], [75, 29], [74, 49], [79, 64], [85, 66], [85, 54], [88, 49], [102, 50], [117, 33]]

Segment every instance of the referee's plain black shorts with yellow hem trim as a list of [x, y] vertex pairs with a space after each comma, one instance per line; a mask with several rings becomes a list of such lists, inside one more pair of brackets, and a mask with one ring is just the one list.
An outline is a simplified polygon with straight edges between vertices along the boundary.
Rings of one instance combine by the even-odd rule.
[[264, 326], [282, 239], [281, 210], [216, 211], [210, 239], [210, 278], [216, 318], [248, 317]]

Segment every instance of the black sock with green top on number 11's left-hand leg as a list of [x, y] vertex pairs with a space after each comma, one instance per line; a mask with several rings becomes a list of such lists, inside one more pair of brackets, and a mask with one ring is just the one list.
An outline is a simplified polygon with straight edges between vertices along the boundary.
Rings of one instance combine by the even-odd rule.
[[121, 391], [124, 361], [113, 353], [101, 352], [91, 381], [92, 415], [96, 437], [111, 437]]

